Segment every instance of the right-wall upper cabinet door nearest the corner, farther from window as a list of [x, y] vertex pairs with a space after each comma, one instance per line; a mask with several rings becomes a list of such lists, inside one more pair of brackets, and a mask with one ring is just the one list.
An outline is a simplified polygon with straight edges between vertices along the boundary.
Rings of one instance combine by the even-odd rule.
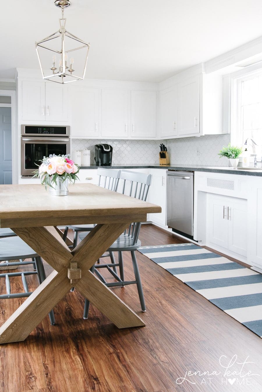
[[177, 86], [160, 92], [160, 137], [177, 135]]

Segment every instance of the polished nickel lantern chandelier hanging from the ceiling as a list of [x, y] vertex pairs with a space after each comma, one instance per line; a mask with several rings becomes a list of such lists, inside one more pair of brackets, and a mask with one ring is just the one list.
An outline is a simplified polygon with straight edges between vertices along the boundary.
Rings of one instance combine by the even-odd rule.
[[83, 80], [90, 45], [66, 31], [64, 8], [69, 7], [71, 2], [55, 0], [55, 5], [62, 10], [59, 30], [35, 43], [42, 76], [44, 79], [62, 84]]

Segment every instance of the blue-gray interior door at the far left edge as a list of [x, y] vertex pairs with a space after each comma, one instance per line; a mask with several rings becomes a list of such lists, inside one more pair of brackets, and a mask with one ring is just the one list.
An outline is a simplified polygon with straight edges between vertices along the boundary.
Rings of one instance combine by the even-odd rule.
[[0, 184], [12, 183], [11, 107], [0, 107]]

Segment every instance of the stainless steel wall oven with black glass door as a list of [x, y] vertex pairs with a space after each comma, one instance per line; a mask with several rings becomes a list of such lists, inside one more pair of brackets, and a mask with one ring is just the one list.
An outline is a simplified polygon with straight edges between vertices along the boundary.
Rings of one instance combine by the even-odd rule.
[[70, 154], [70, 127], [21, 125], [21, 176], [33, 176], [39, 161], [50, 154]]

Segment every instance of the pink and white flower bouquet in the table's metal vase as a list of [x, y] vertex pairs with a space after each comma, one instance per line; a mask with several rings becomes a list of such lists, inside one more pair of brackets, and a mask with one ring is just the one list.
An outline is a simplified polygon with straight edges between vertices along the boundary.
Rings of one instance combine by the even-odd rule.
[[48, 158], [44, 156], [43, 160], [40, 160], [41, 165], [35, 170], [34, 177], [40, 178], [41, 183], [54, 188], [53, 185], [57, 185], [57, 180], [62, 182], [69, 181], [75, 183], [75, 180], [79, 180], [76, 175], [80, 169], [70, 158], [70, 155], [55, 155], [51, 154]]

